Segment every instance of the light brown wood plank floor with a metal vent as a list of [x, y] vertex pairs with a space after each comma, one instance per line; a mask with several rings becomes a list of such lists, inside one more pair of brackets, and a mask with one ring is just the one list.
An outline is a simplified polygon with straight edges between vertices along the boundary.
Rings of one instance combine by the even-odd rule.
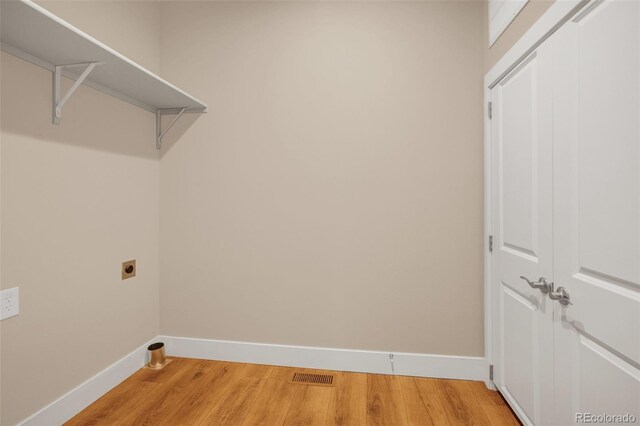
[[[333, 386], [291, 383], [333, 374]], [[141, 369], [67, 425], [518, 425], [482, 382], [173, 358]]]

